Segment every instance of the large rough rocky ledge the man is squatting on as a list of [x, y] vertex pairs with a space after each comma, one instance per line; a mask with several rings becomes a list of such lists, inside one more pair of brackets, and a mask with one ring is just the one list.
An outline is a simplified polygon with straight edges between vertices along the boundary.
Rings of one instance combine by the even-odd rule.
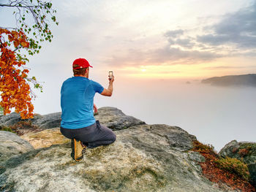
[[[17, 123], [14, 116], [0, 121]], [[69, 139], [44, 121], [56, 117], [58, 122], [59, 116], [38, 115], [38, 126], [45, 130], [23, 134], [26, 140], [0, 131], [0, 191], [233, 191], [203, 176], [199, 163], [205, 159], [191, 151], [196, 137], [178, 126], [148, 125], [116, 108], [102, 107], [95, 118], [117, 130], [116, 142], [87, 149], [83, 161], [75, 162]], [[10, 142], [3, 144], [5, 137]], [[7, 147], [15, 153], [4, 150]]]

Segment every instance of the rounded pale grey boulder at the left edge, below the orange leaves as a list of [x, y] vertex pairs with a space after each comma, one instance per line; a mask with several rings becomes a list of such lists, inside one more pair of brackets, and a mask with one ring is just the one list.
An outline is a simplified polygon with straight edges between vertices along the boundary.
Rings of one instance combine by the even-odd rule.
[[9, 131], [0, 131], [0, 162], [14, 155], [26, 153], [29, 150], [34, 150], [34, 147], [29, 142]]

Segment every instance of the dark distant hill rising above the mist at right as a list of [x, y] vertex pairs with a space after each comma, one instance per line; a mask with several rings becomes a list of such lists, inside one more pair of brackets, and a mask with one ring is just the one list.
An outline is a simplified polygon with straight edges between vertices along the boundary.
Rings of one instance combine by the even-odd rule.
[[256, 74], [227, 75], [222, 77], [211, 77], [201, 81], [211, 85], [219, 86], [253, 86], [256, 87]]

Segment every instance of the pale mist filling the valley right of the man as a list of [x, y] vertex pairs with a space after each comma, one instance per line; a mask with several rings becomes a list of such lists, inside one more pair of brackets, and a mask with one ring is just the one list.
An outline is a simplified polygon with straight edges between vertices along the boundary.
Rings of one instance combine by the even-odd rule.
[[256, 88], [217, 87], [200, 80], [116, 81], [112, 98], [99, 106], [118, 107], [148, 124], [179, 126], [219, 151], [233, 139], [256, 142]]

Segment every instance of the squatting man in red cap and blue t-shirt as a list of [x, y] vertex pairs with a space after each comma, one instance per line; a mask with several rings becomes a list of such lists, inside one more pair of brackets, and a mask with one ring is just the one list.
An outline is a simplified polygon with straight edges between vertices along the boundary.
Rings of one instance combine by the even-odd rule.
[[94, 112], [97, 112], [94, 95], [112, 96], [114, 77], [108, 79], [108, 88], [103, 88], [98, 82], [89, 80], [89, 67], [92, 66], [85, 58], [75, 59], [72, 66], [74, 77], [65, 80], [61, 86], [61, 134], [72, 139], [71, 156], [75, 161], [81, 161], [86, 147], [116, 141], [116, 134], [94, 119]]

